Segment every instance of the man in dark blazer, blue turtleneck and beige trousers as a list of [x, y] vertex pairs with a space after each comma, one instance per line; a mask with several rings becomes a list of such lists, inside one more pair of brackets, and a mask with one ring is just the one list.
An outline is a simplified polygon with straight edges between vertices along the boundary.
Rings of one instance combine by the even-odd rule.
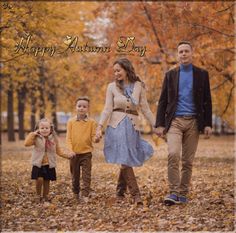
[[181, 41], [177, 53], [180, 66], [165, 75], [154, 129], [159, 137], [167, 136], [170, 194], [164, 200], [166, 205], [187, 203], [199, 133], [204, 132], [209, 138], [212, 132], [208, 72], [192, 65], [193, 50], [189, 42]]

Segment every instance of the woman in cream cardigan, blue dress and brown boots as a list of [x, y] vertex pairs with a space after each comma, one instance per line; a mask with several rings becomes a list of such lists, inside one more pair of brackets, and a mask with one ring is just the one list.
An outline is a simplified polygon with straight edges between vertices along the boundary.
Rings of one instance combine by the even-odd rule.
[[144, 83], [136, 76], [134, 67], [126, 58], [113, 64], [115, 82], [108, 85], [106, 102], [101, 114], [97, 136], [108, 122], [104, 139], [104, 155], [108, 163], [121, 164], [117, 184], [117, 197], [123, 198], [128, 187], [133, 201], [142, 204], [139, 187], [132, 167], [141, 166], [153, 154], [152, 146], [140, 137], [138, 111], [149, 123], [154, 116], [146, 99]]

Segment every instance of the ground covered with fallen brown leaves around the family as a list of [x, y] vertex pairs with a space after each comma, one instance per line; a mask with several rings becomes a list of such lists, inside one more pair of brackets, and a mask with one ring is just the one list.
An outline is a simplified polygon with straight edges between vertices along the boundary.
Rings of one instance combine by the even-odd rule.
[[[146, 136], [151, 143], [151, 137]], [[62, 144], [65, 141], [61, 136]], [[190, 202], [167, 207], [167, 147], [155, 146], [155, 155], [135, 174], [143, 207], [115, 198], [118, 165], [107, 164], [102, 143], [93, 156], [92, 197], [77, 203], [71, 191], [69, 163], [58, 158], [57, 181], [51, 183], [51, 203], [35, 202], [30, 179], [30, 148], [4, 138], [1, 176], [2, 231], [233, 231], [234, 138], [201, 137], [194, 161]]]

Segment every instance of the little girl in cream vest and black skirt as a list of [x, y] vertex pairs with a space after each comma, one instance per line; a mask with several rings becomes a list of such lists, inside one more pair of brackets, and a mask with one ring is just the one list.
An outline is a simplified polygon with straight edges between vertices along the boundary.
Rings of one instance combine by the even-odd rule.
[[[49, 182], [56, 180], [56, 154], [69, 159], [59, 147], [58, 138], [52, 123], [41, 119], [35, 127], [35, 132], [29, 133], [25, 139], [25, 146], [33, 146], [31, 179], [36, 180], [38, 200], [49, 201]], [[41, 196], [43, 186], [43, 197]]]

